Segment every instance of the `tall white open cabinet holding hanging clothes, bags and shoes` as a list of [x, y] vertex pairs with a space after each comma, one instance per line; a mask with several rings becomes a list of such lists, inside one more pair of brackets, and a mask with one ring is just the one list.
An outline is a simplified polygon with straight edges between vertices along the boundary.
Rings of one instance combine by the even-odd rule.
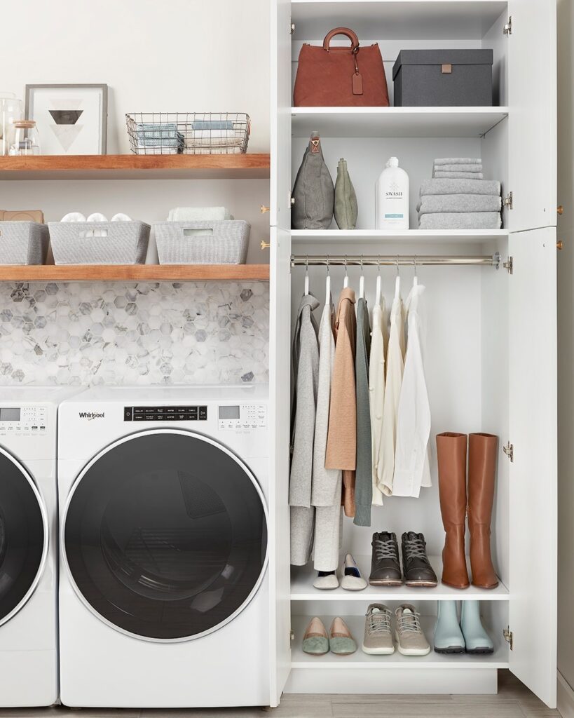
[[[510, 18], [512, 17], [512, 22]], [[294, 28], [292, 27], [294, 25]], [[332, 27], [352, 27], [364, 44], [379, 42], [392, 98], [392, 64], [403, 48], [489, 47], [494, 50], [497, 106], [492, 108], [291, 108], [302, 42], [319, 44]], [[509, 26], [509, 27], [508, 27]], [[509, 668], [550, 706], [556, 683], [556, 130], [555, 0], [278, 0], [272, 49], [271, 396], [276, 458], [271, 526], [275, 617], [270, 666], [281, 691], [309, 693], [481, 693], [497, 690]], [[504, 32], [504, 30], [507, 32]], [[509, 30], [509, 32], [508, 32]], [[292, 32], [293, 31], [293, 32]], [[291, 231], [290, 190], [311, 130], [319, 131], [334, 177], [347, 159], [359, 201], [357, 230]], [[434, 157], [482, 157], [485, 177], [502, 182], [504, 229], [392, 233], [373, 231], [375, 180], [391, 155], [410, 176], [410, 220]], [[423, 531], [440, 577], [444, 531], [438, 504], [434, 437], [489, 432], [499, 437], [492, 521], [493, 591], [378, 589], [319, 592], [312, 567], [288, 566], [288, 444], [293, 312], [305, 269], [290, 257], [493, 256], [492, 266], [421, 266], [428, 304], [426, 375], [433, 426], [433, 488], [419, 499], [392, 497], [373, 508], [372, 527], [344, 520], [343, 549], [368, 576], [373, 531]], [[503, 266], [505, 264], [506, 266]], [[510, 271], [512, 267], [512, 271]], [[390, 300], [396, 269], [380, 269]], [[349, 267], [358, 288], [361, 269]], [[311, 291], [324, 297], [324, 267], [309, 267]], [[334, 299], [344, 270], [331, 266]], [[377, 267], [364, 268], [367, 301]], [[412, 269], [401, 268], [405, 294]], [[512, 460], [508, 452], [512, 445]], [[507, 452], [504, 452], [504, 447]], [[492, 656], [310, 658], [301, 651], [309, 617], [342, 615], [360, 642], [370, 602], [414, 602], [432, 637], [436, 602], [481, 600], [495, 643]], [[290, 632], [293, 640], [290, 642]]]

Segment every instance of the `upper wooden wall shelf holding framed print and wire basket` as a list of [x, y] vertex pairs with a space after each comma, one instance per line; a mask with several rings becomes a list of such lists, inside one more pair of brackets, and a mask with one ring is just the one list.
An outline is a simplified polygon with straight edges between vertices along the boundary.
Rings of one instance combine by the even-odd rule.
[[0, 157], [0, 180], [260, 180], [268, 154], [77, 154]]

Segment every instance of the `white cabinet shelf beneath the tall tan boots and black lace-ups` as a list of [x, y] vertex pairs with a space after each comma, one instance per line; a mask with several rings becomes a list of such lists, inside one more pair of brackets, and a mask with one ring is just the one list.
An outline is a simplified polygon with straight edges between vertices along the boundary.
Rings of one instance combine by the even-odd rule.
[[[370, 556], [354, 556], [359, 570], [369, 579], [371, 571]], [[303, 567], [291, 567], [291, 601], [362, 601], [364, 604], [380, 601], [440, 601], [451, 600], [476, 600], [481, 601], [507, 601], [509, 591], [504, 584], [499, 583], [497, 588], [483, 589], [470, 586], [467, 589], [456, 589], [441, 584], [443, 573], [443, 561], [441, 556], [429, 556], [429, 561], [438, 577], [436, 588], [413, 588], [409, 586], [367, 586], [364, 591], [345, 591], [341, 587], [331, 590], [321, 590], [314, 587], [313, 582], [316, 572], [312, 562]], [[469, 565], [469, 576], [470, 565]]]

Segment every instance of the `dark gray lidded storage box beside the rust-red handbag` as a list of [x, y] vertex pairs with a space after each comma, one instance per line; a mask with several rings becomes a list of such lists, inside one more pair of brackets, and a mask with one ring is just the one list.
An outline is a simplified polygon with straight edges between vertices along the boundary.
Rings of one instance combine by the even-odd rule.
[[492, 106], [492, 50], [401, 50], [395, 107]]

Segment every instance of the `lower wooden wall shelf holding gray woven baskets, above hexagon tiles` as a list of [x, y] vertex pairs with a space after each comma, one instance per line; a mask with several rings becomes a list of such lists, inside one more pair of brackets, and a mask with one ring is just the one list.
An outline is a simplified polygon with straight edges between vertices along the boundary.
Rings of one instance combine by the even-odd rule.
[[268, 264], [0, 266], [0, 281], [269, 281]]

